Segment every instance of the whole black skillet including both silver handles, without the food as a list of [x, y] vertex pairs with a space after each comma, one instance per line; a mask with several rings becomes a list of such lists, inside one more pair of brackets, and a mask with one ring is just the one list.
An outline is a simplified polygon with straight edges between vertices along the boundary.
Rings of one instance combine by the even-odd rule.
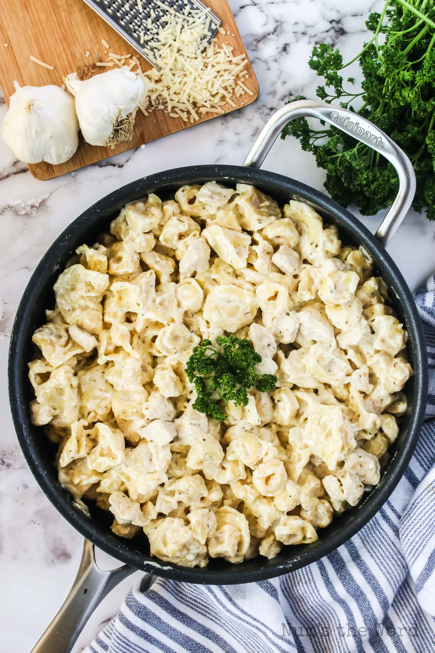
[[[282, 127], [288, 121], [303, 116], [332, 123], [370, 145], [395, 166], [399, 178], [398, 195], [375, 236], [350, 212], [323, 193], [288, 177], [258, 169]], [[365, 494], [361, 503], [333, 520], [327, 528], [320, 529], [316, 542], [284, 547], [273, 560], [258, 557], [233, 565], [219, 558], [211, 559], [203, 569], [187, 569], [150, 558], [147, 538], [143, 534], [130, 540], [114, 535], [110, 530], [110, 516], [92, 505], [93, 502], [89, 505], [91, 518], [74, 505], [71, 496], [57, 481], [57, 471], [53, 465], [55, 446], [44, 436], [42, 428], [33, 426], [30, 421], [29, 402], [34, 395], [27, 378], [27, 362], [33, 358], [33, 331], [45, 323], [45, 308], [54, 304], [53, 283], [76, 247], [83, 243], [93, 244], [97, 234], [108, 230], [110, 221], [127, 202], [141, 199], [148, 193], [157, 193], [164, 200], [181, 185], [202, 184], [210, 180], [229, 187], [235, 187], [239, 182], [252, 184], [277, 200], [280, 206], [290, 199], [307, 202], [327, 223], [337, 225], [342, 242], [363, 247], [373, 259], [375, 274], [382, 276], [387, 284], [391, 304], [408, 332], [408, 352], [414, 375], [404, 389], [408, 407], [380, 483]], [[86, 540], [82, 565], [74, 586], [33, 653], [70, 651], [102, 597], [136, 569], [143, 569], [149, 574], [149, 586], [155, 576], [207, 584], [269, 579], [315, 562], [337, 549], [378, 512], [408, 466], [419, 437], [427, 396], [427, 355], [419, 316], [410, 289], [385, 251], [387, 242], [410, 208], [414, 192], [415, 176], [409, 159], [380, 129], [340, 107], [316, 101], [299, 101], [282, 107], [272, 116], [243, 167], [200, 165], [177, 168], [129, 183], [91, 206], [55, 240], [33, 273], [16, 315], [8, 362], [10, 407], [20, 445], [33, 475], [53, 505]], [[100, 571], [94, 562], [93, 545], [125, 565], [109, 573]]]

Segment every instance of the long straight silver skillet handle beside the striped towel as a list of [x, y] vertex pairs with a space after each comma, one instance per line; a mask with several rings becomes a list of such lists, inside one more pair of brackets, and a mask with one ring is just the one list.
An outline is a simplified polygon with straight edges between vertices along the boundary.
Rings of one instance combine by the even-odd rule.
[[[137, 569], [129, 565], [101, 571], [95, 563], [94, 547], [85, 539], [82, 561], [70, 593], [31, 653], [69, 653], [98, 603], [134, 571]], [[151, 587], [155, 577], [147, 575]]]

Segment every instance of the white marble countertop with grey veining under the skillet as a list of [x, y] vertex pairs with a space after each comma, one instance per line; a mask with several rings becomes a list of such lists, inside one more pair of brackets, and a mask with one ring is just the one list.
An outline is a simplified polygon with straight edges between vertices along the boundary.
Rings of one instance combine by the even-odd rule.
[[[307, 61], [320, 40], [338, 44], [344, 57], [359, 51], [368, 0], [230, 0], [260, 83], [258, 101], [50, 182], [33, 179], [0, 140], [0, 653], [28, 653], [67, 596], [81, 556], [82, 537], [50, 505], [18, 447], [7, 399], [7, 351], [25, 285], [53, 240], [83, 210], [113, 189], [173, 167], [200, 163], [241, 165], [273, 110], [318, 84]], [[357, 49], [358, 48], [358, 49]], [[352, 58], [352, 57], [349, 57]], [[357, 76], [357, 70], [349, 74]], [[1, 101], [0, 101], [1, 102]], [[0, 104], [0, 120], [7, 110]], [[322, 189], [323, 170], [293, 139], [278, 140], [264, 168]], [[357, 215], [357, 212], [355, 212]], [[376, 231], [381, 215], [364, 218]], [[410, 287], [435, 268], [435, 223], [410, 212], [388, 249]], [[132, 577], [113, 590], [88, 622], [79, 653], [116, 613]]]

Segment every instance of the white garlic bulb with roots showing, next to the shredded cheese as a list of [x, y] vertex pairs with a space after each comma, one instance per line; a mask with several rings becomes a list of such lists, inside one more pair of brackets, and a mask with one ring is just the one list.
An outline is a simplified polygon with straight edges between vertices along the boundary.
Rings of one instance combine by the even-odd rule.
[[136, 110], [147, 92], [141, 77], [124, 66], [83, 82], [72, 72], [65, 84], [76, 97], [78, 121], [87, 143], [115, 145], [131, 138]]

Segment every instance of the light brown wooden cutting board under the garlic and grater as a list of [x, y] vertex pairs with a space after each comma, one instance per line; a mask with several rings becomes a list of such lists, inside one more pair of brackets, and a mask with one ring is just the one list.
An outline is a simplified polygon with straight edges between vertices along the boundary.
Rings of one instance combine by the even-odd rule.
[[[224, 30], [230, 32], [225, 35], [218, 33], [218, 41], [233, 46], [235, 56], [246, 54], [228, 1], [206, 0], [206, 4], [220, 18]], [[14, 80], [20, 86], [61, 86], [63, 78], [70, 72], [76, 71], [80, 79], [87, 79], [110, 70], [96, 66], [97, 61], [106, 61], [108, 56], [104, 54], [106, 48], [102, 39], [110, 46], [107, 53], [136, 55], [140, 58], [142, 71], [151, 69], [151, 65], [82, 0], [1, 0], [0, 86], [7, 103], [15, 90]], [[86, 52], [90, 53], [88, 57]], [[40, 67], [31, 61], [30, 56], [52, 65], [53, 71]], [[252, 95], [234, 95], [235, 108], [247, 106], [258, 97], [258, 82], [249, 61], [245, 70], [249, 77], [244, 84]], [[230, 104], [222, 108], [225, 113], [234, 110]], [[215, 117], [216, 114], [205, 114], [196, 122]], [[35, 163], [29, 165], [29, 169], [37, 179], [52, 179], [191, 126], [190, 122], [172, 118], [161, 109], [148, 116], [138, 111], [132, 139], [118, 144], [113, 150], [89, 145], [80, 135], [78, 150], [67, 163]]]

